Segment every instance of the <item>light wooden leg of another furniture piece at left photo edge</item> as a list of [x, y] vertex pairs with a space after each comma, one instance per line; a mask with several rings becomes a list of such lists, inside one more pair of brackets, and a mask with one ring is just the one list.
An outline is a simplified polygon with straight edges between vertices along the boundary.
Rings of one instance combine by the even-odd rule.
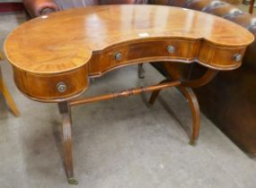
[[[0, 68], [0, 72], [1, 72], [1, 68]], [[20, 112], [19, 112], [18, 108], [16, 107], [15, 102], [13, 101], [13, 98], [12, 98], [9, 90], [7, 90], [6, 86], [4, 85], [4, 81], [3, 81], [1, 73], [0, 73], [0, 91], [3, 93], [6, 103], [12, 110], [13, 115], [19, 116]]]

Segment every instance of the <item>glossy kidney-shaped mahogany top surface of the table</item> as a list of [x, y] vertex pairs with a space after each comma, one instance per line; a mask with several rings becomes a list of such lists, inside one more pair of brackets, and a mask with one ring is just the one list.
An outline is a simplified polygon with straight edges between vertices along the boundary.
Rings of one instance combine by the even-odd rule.
[[54, 74], [83, 66], [92, 53], [104, 48], [152, 38], [200, 40], [234, 48], [248, 46], [254, 39], [241, 26], [207, 13], [158, 5], [101, 5], [25, 22], [9, 35], [4, 50], [20, 70]]

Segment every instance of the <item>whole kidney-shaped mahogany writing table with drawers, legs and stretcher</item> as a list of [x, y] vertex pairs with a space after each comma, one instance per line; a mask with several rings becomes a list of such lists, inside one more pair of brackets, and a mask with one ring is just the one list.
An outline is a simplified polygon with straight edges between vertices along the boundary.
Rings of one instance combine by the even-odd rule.
[[[233, 70], [253, 41], [242, 27], [207, 13], [154, 5], [91, 6], [44, 15], [25, 22], [6, 38], [5, 54], [16, 86], [29, 98], [58, 104], [63, 115], [62, 141], [68, 182], [73, 173], [70, 107], [178, 87], [190, 102], [199, 136], [199, 104], [190, 88], [211, 81], [217, 71]], [[166, 80], [144, 88], [77, 98], [93, 77], [128, 64], [199, 63], [208, 71], [195, 81]], [[113, 117], [114, 118], [114, 117]]]

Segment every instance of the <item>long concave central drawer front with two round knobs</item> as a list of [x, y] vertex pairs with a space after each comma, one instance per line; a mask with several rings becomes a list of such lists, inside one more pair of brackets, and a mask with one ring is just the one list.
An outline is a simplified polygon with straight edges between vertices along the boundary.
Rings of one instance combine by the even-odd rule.
[[[190, 61], [197, 56], [199, 41], [185, 39], [158, 39], [144, 42], [133, 41], [108, 47], [100, 57], [100, 72], [104, 73], [125, 64], [155, 60]], [[160, 61], [161, 61], [160, 60]]]

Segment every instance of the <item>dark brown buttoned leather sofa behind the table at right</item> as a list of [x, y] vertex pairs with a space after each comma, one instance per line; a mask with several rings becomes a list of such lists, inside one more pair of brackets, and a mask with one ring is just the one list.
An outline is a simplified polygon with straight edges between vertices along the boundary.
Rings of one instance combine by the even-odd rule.
[[[250, 7], [253, 9], [252, 0]], [[254, 2], [254, 0], [253, 0]], [[216, 0], [151, 0], [153, 4], [181, 6], [223, 17], [250, 30], [256, 36], [256, 14], [249, 14], [247, 8], [225, 4]], [[249, 8], [249, 6], [248, 6]], [[251, 10], [252, 10], [251, 9]], [[200, 109], [211, 122], [225, 133], [245, 153], [256, 158], [256, 41], [247, 49], [243, 65], [232, 72], [219, 73], [212, 82], [196, 89]], [[155, 64], [159, 68], [160, 64]], [[169, 64], [171, 65], [171, 64]], [[179, 65], [175, 68], [185, 79], [197, 78], [206, 70], [198, 64]], [[164, 68], [160, 67], [164, 72]], [[170, 69], [171, 70], [171, 69]], [[192, 71], [191, 71], [192, 70]], [[168, 73], [166, 73], [168, 74]], [[166, 75], [165, 74], [165, 75]], [[241, 118], [243, 117], [243, 118]]]

